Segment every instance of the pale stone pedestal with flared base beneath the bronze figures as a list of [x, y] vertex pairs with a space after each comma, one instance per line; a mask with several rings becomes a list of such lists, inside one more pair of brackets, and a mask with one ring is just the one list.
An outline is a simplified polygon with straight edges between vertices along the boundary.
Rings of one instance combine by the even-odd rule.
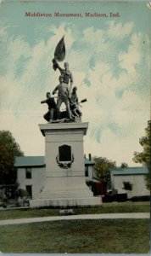
[[95, 206], [101, 199], [93, 197], [87, 187], [84, 166], [83, 136], [88, 123], [39, 125], [45, 137], [45, 184], [31, 207]]

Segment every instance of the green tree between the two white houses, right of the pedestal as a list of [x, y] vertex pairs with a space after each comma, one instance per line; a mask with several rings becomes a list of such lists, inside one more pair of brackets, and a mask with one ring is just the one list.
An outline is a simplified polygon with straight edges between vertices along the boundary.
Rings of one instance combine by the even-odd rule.
[[95, 162], [95, 171], [97, 177], [103, 179], [103, 181], [109, 182], [110, 180], [110, 171], [111, 169], [116, 167], [116, 162], [112, 160], [108, 160], [105, 157], [94, 157]]

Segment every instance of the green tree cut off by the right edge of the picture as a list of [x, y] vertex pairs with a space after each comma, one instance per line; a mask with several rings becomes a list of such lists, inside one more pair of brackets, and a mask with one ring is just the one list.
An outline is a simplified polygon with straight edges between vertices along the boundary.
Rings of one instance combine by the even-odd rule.
[[148, 127], [145, 129], [144, 137], [139, 139], [139, 143], [143, 147], [143, 152], [134, 152], [135, 163], [144, 163], [148, 167], [148, 175], [146, 178], [147, 188], [151, 189], [151, 165], [150, 165], [150, 149], [151, 149], [151, 121], [148, 121]]

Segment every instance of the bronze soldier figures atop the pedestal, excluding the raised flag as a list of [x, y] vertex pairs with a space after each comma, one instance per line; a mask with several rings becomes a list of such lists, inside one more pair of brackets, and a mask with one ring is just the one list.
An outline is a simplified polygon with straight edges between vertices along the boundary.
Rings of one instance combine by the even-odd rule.
[[[48, 123], [72, 122], [81, 120], [81, 111], [79, 109], [78, 97], [76, 94], [77, 87], [73, 87], [73, 76], [69, 69], [68, 62], [64, 62], [64, 69], [59, 67], [58, 61], [53, 59], [53, 68], [59, 69], [59, 85], [53, 90], [53, 95], [58, 92], [57, 102], [50, 92], [47, 92], [47, 99], [41, 103], [48, 104], [48, 113], [44, 114], [44, 119]], [[66, 111], [60, 112], [61, 104], [64, 102]]]

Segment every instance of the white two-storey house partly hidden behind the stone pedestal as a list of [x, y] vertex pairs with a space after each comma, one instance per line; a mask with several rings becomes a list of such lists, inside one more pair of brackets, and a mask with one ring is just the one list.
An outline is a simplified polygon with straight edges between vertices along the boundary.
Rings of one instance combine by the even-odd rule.
[[[90, 157], [90, 156], [89, 156]], [[92, 179], [94, 162], [89, 158], [84, 159], [85, 176]], [[17, 183], [19, 189], [24, 189], [31, 195], [32, 199], [36, 199], [45, 182], [45, 158], [44, 156], [21, 156], [16, 157], [14, 167], [17, 170]]]

